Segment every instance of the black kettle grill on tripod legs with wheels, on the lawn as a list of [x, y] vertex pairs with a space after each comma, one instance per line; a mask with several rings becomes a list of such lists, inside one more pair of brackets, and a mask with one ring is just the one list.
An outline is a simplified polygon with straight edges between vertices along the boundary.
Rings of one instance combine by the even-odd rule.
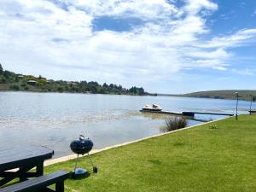
[[76, 159], [76, 164], [74, 166], [73, 170], [73, 175], [74, 177], [77, 176], [83, 176], [87, 175], [88, 171], [86, 169], [78, 168], [78, 159], [79, 159], [79, 154], [88, 154], [88, 157], [90, 159], [90, 164], [92, 166], [92, 172], [98, 172], [98, 169], [96, 166], [93, 166], [92, 160], [90, 158], [90, 150], [93, 147], [93, 143], [89, 138], [85, 138], [83, 135], [79, 136], [79, 140], [74, 140], [72, 143], [70, 143], [70, 148], [73, 151], [73, 153], [78, 154], [77, 159]]

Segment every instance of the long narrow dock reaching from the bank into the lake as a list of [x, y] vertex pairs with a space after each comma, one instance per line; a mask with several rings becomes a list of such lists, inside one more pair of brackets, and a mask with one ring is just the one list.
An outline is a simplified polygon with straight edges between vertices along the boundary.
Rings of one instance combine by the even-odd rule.
[[[162, 113], [162, 114], [174, 114], [174, 115], [183, 115], [189, 117], [195, 117], [195, 114], [212, 114], [212, 115], [225, 115], [225, 116], [234, 116], [231, 113], [207, 113], [207, 112], [191, 112], [191, 111], [184, 111], [184, 112], [171, 112], [171, 111], [154, 111], [154, 110], [140, 110], [140, 112], [147, 112], [147, 113]], [[255, 111], [256, 113], [256, 111]]]

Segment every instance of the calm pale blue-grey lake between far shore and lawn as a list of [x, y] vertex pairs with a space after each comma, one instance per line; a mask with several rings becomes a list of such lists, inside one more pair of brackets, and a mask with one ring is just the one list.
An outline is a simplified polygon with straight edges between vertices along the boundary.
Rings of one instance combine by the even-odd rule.
[[[160, 133], [166, 115], [140, 113], [146, 104], [164, 110], [235, 113], [236, 101], [171, 96], [112, 96], [69, 93], [0, 92], [0, 148], [44, 145], [55, 158], [72, 154], [69, 143], [79, 134], [94, 148], [104, 148]], [[239, 113], [250, 102], [239, 101]], [[224, 116], [195, 115], [195, 119]], [[189, 125], [201, 122], [189, 120]]]

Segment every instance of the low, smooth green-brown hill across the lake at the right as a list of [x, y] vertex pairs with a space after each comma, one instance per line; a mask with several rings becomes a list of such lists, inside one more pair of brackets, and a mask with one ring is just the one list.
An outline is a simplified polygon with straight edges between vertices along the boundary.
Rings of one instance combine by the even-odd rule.
[[256, 101], [256, 90], [208, 90], [183, 95], [167, 95], [158, 94], [158, 96], [185, 96], [197, 98], [212, 98], [212, 99], [236, 99], [236, 92], [238, 92], [240, 100], [250, 101], [253, 96], [253, 101]]

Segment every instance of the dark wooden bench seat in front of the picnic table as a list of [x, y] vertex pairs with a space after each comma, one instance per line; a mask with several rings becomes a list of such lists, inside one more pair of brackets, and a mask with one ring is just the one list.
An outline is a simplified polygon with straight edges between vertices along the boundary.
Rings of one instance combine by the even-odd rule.
[[[55, 191], [64, 192], [64, 180], [70, 177], [69, 172], [58, 171], [50, 173], [30, 180], [15, 183], [3, 189], [0, 192], [35, 192], [35, 191]], [[47, 188], [49, 185], [55, 184], [55, 190]]]

